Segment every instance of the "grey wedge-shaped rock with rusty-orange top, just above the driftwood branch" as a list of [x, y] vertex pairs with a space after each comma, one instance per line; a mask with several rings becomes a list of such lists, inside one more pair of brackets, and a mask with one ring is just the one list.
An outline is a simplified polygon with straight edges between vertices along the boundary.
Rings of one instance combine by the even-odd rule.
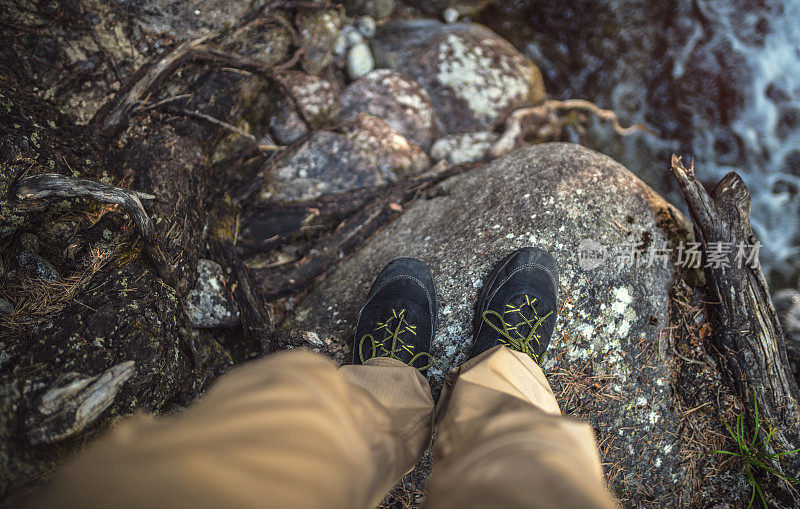
[[383, 120], [362, 115], [341, 133], [318, 131], [276, 166], [265, 200], [308, 200], [392, 182], [428, 166], [428, 156]]

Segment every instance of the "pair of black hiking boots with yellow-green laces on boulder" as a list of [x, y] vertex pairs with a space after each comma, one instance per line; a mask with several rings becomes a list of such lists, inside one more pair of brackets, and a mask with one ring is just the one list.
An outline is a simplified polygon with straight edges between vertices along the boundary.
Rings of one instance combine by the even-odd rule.
[[[539, 363], [555, 328], [558, 277], [546, 251], [518, 249], [498, 263], [475, 306], [469, 358], [505, 345]], [[434, 363], [436, 286], [415, 258], [391, 261], [378, 274], [358, 315], [353, 363], [391, 357], [422, 373]]]

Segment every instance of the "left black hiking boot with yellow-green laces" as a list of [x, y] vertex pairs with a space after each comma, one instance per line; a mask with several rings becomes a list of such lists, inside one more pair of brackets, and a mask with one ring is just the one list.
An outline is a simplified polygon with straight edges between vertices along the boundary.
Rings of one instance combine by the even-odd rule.
[[423, 374], [433, 364], [436, 287], [430, 269], [415, 258], [397, 258], [372, 283], [358, 314], [353, 363], [391, 357]]

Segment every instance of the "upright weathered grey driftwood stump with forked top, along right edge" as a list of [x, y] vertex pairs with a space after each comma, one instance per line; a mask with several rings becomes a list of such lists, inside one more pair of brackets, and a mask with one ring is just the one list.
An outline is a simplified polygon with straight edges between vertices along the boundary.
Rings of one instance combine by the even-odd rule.
[[[734, 249], [740, 243], [756, 244], [750, 226], [750, 193], [739, 175], [729, 173], [709, 195], [695, 177], [693, 165], [686, 168], [673, 156], [671, 170], [706, 253], [711, 243], [730, 243]], [[712, 351], [718, 366], [750, 413], [750, 433], [755, 428], [754, 398], [758, 402], [761, 439], [772, 433], [765, 452], [794, 450], [800, 447], [800, 389], [789, 368], [785, 336], [764, 275], [757, 264], [715, 265], [706, 263], [705, 275], [709, 315], [715, 327]], [[796, 478], [800, 454], [780, 456], [773, 467]], [[775, 505], [796, 507], [800, 503], [798, 493], [783, 481], [775, 482], [765, 493]]]

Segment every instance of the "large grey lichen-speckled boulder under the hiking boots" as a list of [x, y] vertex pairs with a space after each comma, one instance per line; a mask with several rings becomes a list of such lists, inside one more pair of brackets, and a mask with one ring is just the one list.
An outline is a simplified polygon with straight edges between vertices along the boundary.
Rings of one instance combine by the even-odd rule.
[[681, 214], [612, 159], [562, 143], [520, 149], [414, 203], [308, 295], [291, 325], [349, 362], [373, 278], [395, 257], [418, 257], [439, 293], [429, 372], [436, 391], [466, 358], [473, 305], [492, 265], [518, 247], [545, 248], [559, 264], [560, 308], [544, 369], [562, 409], [591, 421], [603, 461], [624, 472], [613, 490], [644, 483], [654, 499], [677, 503], [688, 474], [667, 353], [675, 267], [669, 257], [648, 266], [646, 256], [632, 266], [623, 255], [688, 235]]

